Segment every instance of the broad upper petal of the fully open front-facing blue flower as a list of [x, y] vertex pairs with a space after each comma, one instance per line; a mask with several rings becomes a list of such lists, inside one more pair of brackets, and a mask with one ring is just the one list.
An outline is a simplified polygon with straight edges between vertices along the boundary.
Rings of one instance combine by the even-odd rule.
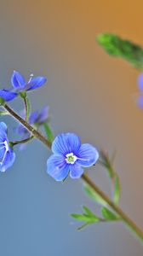
[[68, 153], [77, 155], [80, 146], [80, 138], [75, 133], [60, 133], [52, 143], [52, 151], [54, 154], [64, 154], [65, 156]]

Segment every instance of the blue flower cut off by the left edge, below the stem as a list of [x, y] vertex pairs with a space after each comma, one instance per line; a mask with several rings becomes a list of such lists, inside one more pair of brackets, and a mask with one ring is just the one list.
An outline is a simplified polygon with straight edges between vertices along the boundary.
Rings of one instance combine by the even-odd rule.
[[7, 125], [0, 122], [0, 172], [5, 172], [14, 164], [15, 160], [15, 154], [9, 146], [7, 134]]

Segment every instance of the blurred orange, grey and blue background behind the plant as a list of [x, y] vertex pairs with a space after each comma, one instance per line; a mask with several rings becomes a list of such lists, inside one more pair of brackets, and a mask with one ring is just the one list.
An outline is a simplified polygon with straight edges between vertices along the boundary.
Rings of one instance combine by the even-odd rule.
[[[83, 143], [116, 150], [122, 183], [120, 206], [143, 228], [143, 110], [136, 107], [139, 71], [100, 49], [95, 37], [117, 33], [143, 42], [143, 2], [114, 0], [0, 1], [0, 84], [13, 70], [43, 75], [48, 84], [31, 92], [32, 110], [50, 106], [54, 134], [74, 131]], [[22, 108], [17, 99], [11, 104]], [[1, 120], [3, 120], [1, 118]], [[9, 137], [16, 123], [9, 125]], [[11, 132], [10, 132], [11, 131]], [[123, 224], [94, 224], [77, 231], [69, 217], [86, 205], [82, 182], [56, 183], [46, 174], [50, 152], [32, 142], [9, 172], [0, 174], [0, 255], [141, 256], [143, 247]], [[108, 194], [104, 170], [92, 177]], [[110, 194], [109, 194], [110, 195]]]

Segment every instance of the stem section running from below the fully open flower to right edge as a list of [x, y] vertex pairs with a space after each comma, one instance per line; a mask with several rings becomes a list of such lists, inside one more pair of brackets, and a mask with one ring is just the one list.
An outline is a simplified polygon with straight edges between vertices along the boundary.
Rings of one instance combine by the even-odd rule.
[[124, 212], [121, 210], [117, 205], [115, 205], [110, 198], [102, 191], [100, 190], [94, 182], [85, 174], [82, 176], [83, 181], [87, 183], [94, 191], [100, 195], [100, 197], [107, 202], [107, 204], [112, 208], [113, 211], [117, 212], [118, 216], [120, 216], [123, 220], [123, 222], [129, 227], [129, 230], [133, 231], [134, 235], [137, 236], [140, 241], [143, 243], [143, 232], [140, 230], [140, 228], [134, 224], [133, 220], [130, 219]]

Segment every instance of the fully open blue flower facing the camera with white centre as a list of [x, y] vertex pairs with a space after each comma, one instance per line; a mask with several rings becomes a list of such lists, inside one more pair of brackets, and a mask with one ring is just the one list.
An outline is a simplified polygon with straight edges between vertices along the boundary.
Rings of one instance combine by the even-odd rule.
[[86, 143], [74, 133], [61, 133], [52, 143], [52, 154], [47, 161], [47, 172], [56, 181], [64, 180], [69, 172], [72, 178], [81, 177], [83, 167], [93, 166], [99, 158], [96, 148]]

